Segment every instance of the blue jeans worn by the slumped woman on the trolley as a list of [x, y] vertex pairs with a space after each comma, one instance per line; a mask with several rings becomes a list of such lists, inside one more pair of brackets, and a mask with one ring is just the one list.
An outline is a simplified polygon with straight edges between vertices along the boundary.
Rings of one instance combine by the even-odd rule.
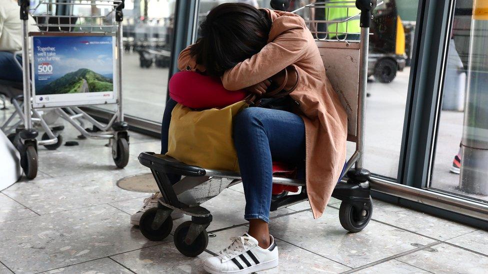
[[[166, 103], [161, 125], [161, 154], [167, 152], [169, 121], [176, 105]], [[249, 107], [233, 120], [233, 138], [244, 186], [244, 218], [269, 222], [272, 191], [272, 161], [296, 165], [304, 170], [305, 125], [296, 114]], [[171, 183], [181, 176], [168, 174]], [[300, 176], [304, 177], [304, 176]]]

